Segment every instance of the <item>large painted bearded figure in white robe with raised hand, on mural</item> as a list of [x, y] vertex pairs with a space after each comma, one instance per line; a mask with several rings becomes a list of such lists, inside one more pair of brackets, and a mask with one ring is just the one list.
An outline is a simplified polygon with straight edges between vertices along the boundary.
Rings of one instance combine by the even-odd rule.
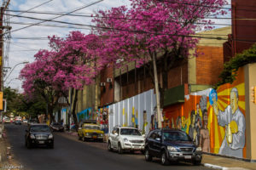
[[238, 90], [232, 88], [230, 105], [224, 111], [218, 110], [217, 98], [212, 99], [215, 115], [218, 116], [218, 125], [225, 127], [225, 137], [218, 153], [226, 156], [242, 157], [245, 145], [245, 117], [238, 107]]

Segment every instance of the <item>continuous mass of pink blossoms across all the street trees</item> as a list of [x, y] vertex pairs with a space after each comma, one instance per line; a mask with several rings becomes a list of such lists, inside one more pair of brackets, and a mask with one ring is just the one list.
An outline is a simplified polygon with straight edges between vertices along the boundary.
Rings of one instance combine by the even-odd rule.
[[[130, 0], [131, 8], [120, 6], [99, 11], [92, 33], [72, 31], [66, 38], [49, 37], [51, 50], [40, 50], [35, 61], [20, 71], [23, 88], [32, 94], [38, 84], [57, 90], [83, 88], [102, 68], [136, 62], [137, 67], [152, 56], [188, 56], [201, 26], [211, 29], [207, 16], [225, 14], [226, 0]], [[201, 23], [201, 24], [198, 24]], [[37, 83], [36, 83], [37, 82]]]

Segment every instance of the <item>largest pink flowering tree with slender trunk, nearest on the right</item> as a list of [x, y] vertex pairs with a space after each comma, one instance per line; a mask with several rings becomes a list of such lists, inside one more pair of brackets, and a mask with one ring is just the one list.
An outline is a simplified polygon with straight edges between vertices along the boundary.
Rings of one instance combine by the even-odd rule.
[[[212, 29], [213, 14], [226, 14], [225, 0], [130, 0], [125, 6], [99, 11], [93, 20], [96, 34], [104, 38], [102, 62], [117, 60], [145, 65], [156, 89], [157, 111], [164, 104], [167, 73], [189, 56], [199, 37], [195, 31]], [[195, 54], [196, 55], [196, 54]], [[120, 63], [122, 64], [122, 63]], [[159, 86], [158, 71], [162, 86]], [[160, 94], [159, 94], [160, 92]], [[160, 117], [159, 117], [160, 120]], [[161, 126], [161, 123], [159, 123]]]

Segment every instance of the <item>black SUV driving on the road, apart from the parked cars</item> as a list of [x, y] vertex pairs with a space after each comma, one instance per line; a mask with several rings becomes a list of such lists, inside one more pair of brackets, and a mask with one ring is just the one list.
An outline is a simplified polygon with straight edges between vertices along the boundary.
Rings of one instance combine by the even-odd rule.
[[25, 144], [27, 148], [47, 145], [54, 148], [54, 136], [46, 124], [31, 124], [26, 128]]

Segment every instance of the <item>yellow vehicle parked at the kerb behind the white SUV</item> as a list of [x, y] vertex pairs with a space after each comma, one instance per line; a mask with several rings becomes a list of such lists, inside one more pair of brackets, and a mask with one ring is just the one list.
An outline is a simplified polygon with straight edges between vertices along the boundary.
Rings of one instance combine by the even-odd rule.
[[101, 130], [99, 125], [93, 123], [84, 123], [82, 127], [79, 127], [79, 140], [98, 140], [103, 142], [104, 132]]

